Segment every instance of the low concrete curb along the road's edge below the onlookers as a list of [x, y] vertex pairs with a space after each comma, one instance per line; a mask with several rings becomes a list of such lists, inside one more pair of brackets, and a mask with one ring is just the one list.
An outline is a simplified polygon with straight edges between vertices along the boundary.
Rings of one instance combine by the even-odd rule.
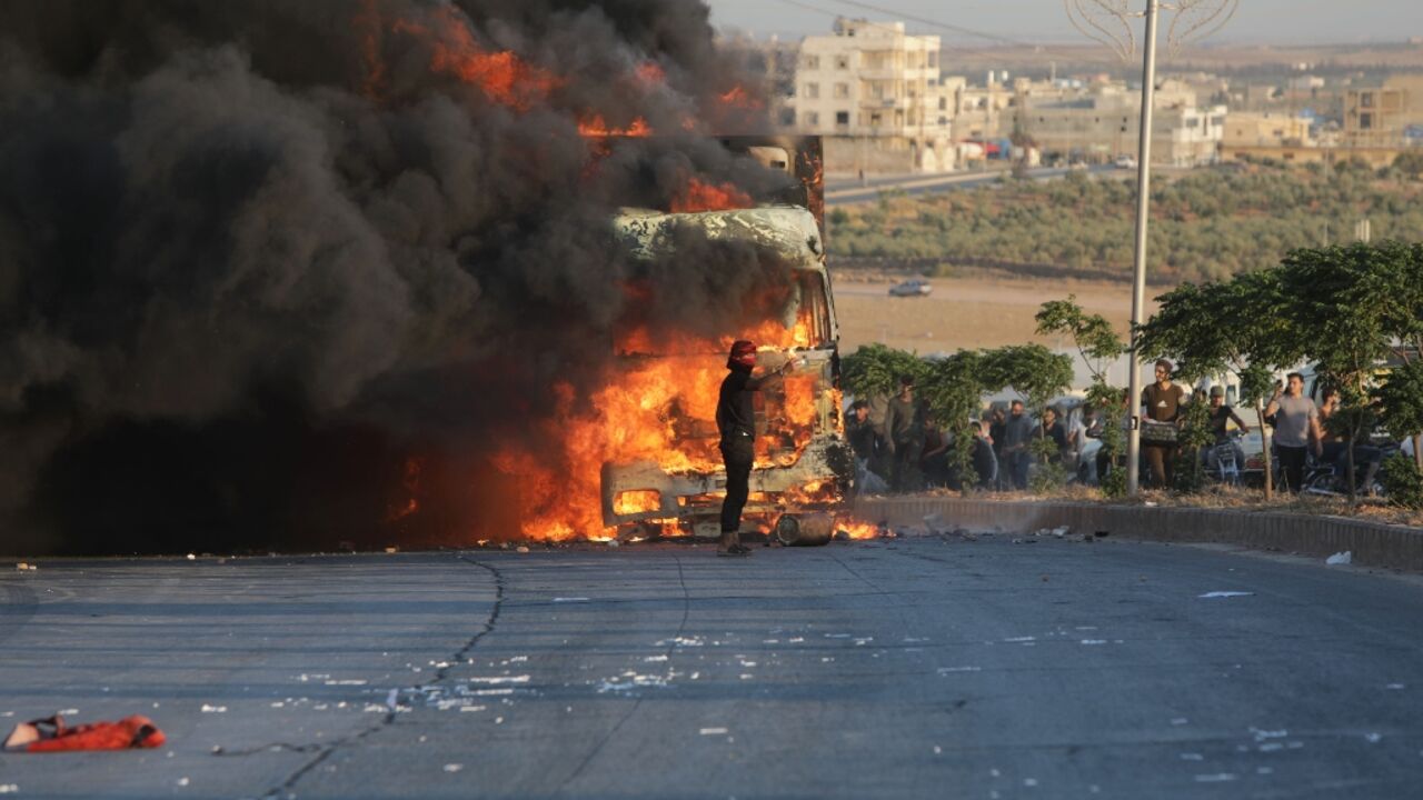
[[1319, 557], [1352, 551], [1355, 564], [1423, 571], [1423, 530], [1342, 517], [955, 497], [862, 498], [855, 501], [854, 512], [867, 522], [889, 525], [922, 525], [925, 517], [938, 514], [945, 525], [1005, 532], [1067, 525], [1081, 534], [1109, 531], [1113, 537], [1237, 544]]

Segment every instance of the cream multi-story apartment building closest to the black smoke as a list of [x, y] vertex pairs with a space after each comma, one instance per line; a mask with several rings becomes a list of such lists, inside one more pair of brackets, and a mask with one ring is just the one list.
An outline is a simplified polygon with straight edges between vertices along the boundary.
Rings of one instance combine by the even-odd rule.
[[793, 127], [824, 137], [827, 169], [952, 169], [951, 101], [936, 36], [909, 36], [904, 23], [841, 19], [834, 36], [801, 41]]

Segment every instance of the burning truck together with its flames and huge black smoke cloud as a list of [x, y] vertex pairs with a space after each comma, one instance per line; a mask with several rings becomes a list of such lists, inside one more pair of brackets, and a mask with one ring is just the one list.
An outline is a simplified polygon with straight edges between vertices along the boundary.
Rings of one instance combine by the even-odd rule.
[[704, 6], [131, 6], [0, 10], [24, 549], [696, 532], [734, 339], [797, 364], [748, 511], [841, 497], [820, 144], [712, 135], [768, 117]]

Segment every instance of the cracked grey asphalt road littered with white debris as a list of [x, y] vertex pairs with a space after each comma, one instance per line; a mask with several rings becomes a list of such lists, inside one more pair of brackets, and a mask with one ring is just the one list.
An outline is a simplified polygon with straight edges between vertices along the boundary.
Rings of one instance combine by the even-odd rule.
[[[1244, 592], [1207, 596], [1212, 592]], [[14, 797], [1416, 797], [1423, 582], [1222, 549], [41, 561], [0, 574]]]

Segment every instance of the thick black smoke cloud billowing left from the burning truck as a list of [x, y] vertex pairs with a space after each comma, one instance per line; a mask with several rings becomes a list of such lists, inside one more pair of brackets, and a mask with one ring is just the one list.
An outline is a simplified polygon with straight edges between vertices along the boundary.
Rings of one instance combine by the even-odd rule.
[[[461, 43], [555, 80], [501, 101], [433, 68]], [[736, 81], [686, 0], [0, 4], [0, 549], [380, 544], [434, 450], [475, 502], [491, 431], [602, 379], [629, 279], [693, 332], [785, 280], [609, 236], [690, 175], [774, 185], [684, 131], [757, 125]]]

